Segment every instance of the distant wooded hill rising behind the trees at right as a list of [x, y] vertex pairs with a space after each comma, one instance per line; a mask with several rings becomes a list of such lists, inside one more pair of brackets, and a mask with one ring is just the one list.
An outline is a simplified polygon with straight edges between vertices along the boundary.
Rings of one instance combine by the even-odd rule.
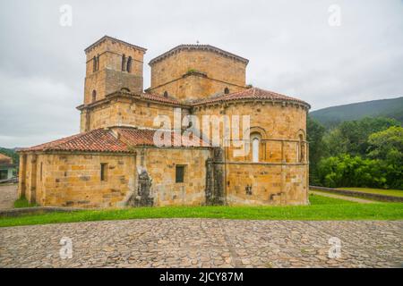
[[339, 122], [363, 117], [389, 117], [403, 123], [403, 97], [359, 102], [350, 105], [331, 106], [315, 110], [310, 115], [330, 128]]

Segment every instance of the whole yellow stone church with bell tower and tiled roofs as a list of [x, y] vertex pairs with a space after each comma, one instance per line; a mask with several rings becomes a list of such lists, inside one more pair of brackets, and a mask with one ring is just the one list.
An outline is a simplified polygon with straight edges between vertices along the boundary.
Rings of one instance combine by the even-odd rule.
[[[85, 49], [81, 131], [19, 151], [19, 196], [40, 206], [308, 204], [310, 105], [246, 85], [249, 61], [210, 45], [180, 45], [152, 59], [144, 90], [145, 53], [107, 36]], [[200, 121], [249, 115], [250, 152], [235, 156], [222, 133], [219, 146], [157, 146], [155, 118], [175, 122], [177, 110]], [[169, 141], [184, 128], [174, 127]]]

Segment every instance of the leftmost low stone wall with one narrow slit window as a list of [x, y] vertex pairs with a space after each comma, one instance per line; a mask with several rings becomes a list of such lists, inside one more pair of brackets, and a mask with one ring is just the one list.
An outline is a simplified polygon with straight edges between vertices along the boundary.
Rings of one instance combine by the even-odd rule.
[[[21, 155], [23, 156], [23, 155]], [[107, 177], [100, 180], [101, 163]], [[20, 172], [19, 194], [40, 206], [117, 206], [135, 188], [135, 157], [116, 155], [28, 154]]]

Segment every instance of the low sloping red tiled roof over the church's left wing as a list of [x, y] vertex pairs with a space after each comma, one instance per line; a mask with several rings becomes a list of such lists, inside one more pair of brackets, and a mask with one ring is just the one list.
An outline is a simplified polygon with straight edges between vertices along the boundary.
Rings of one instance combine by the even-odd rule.
[[[90, 130], [63, 139], [57, 139], [34, 147], [21, 148], [19, 152], [29, 151], [81, 151], [130, 153], [130, 147], [155, 146], [156, 130], [141, 130], [133, 127], [112, 127], [110, 129]], [[174, 146], [175, 132], [171, 144]], [[200, 139], [201, 142], [201, 139]], [[201, 147], [200, 143], [200, 147]], [[181, 147], [199, 147], [192, 140], [184, 140]]]

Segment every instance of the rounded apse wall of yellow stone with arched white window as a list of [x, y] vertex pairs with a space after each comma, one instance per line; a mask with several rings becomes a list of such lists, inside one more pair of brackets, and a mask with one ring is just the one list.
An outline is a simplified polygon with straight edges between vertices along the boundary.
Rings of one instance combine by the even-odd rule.
[[[308, 145], [304, 137], [304, 108], [282, 103], [238, 102], [203, 107], [196, 109], [193, 114], [200, 117], [200, 122], [203, 114], [250, 115], [250, 133], [260, 134], [258, 163], [252, 162], [251, 143], [246, 149], [249, 150], [246, 156], [234, 156], [238, 147], [234, 147], [233, 141], [229, 141], [230, 146], [224, 150], [224, 162], [220, 164], [225, 166], [224, 186], [228, 205], [308, 203]], [[220, 138], [223, 139], [222, 125], [220, 130]], [[211, 134], [210, 126], [210, 138]], [[303, 135], [302, 142], [300, 134]]]

